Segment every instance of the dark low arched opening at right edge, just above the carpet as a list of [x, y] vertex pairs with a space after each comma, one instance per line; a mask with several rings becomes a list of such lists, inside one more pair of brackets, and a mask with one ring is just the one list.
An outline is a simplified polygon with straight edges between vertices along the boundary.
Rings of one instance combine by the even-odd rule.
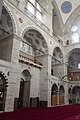
[[75, 86], [72, 89], [72, 102], [80, 103], [80, 87], [79, 86]]

